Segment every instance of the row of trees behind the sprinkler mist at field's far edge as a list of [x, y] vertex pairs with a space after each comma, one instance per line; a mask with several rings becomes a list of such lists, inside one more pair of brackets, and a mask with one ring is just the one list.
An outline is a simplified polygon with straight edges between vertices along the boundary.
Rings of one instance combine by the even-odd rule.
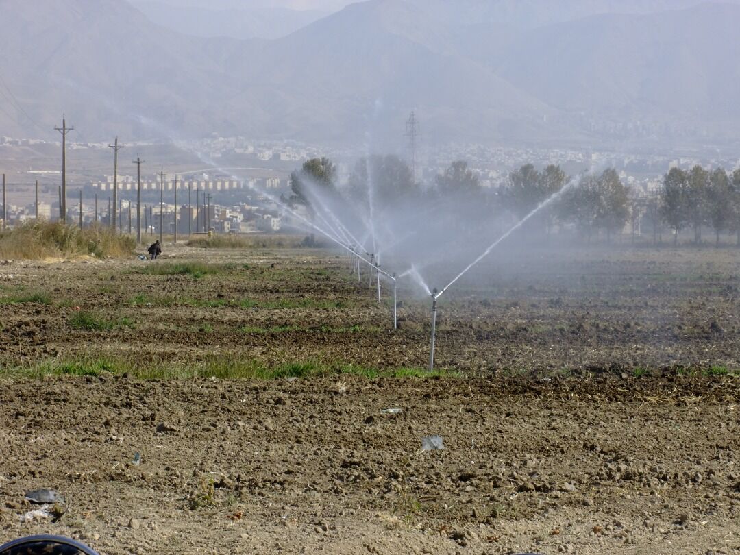
[[[309, 182], [329, 198], [355, 206], [373, 204], [379, 213], [399, 203], [426, 201], [452, 217], [465, 218], [468, 227], [476, 218], [522, 219], [537, 210], [526, 225], [531, 234], [574, 230], [588, 242], [599, 235], [610, 243], [631, 221], [633, 234], [647, 226], [656, 243], [665, 229], [672, 232], [674, 244], [684, 229], [692, 229], [699, 244], [702, 229], [708, 227], [717, 244], [722, 233], [734, 232], [740, 246], [740, 169], [728, 173], [699, 165], [689, 170], [673, 167], [659, 188], [645, 195], [625, 185], [613, 168], [573, 178], [556, 164], [542, 169], [525, 164], [510, 172], [504, 184], [489, 188], [481, 186], [465, 161], [454, 161], [423, 186], [401, 158], [372, 155], [360, 158], [339, 184], [337, 166], [329, 158], [312, 158], [292, 172], [292, 194], [283, 201], [303, 204], [310, 212], [317, 199]], [[546, 206], [540, 206], [545, 201]]]

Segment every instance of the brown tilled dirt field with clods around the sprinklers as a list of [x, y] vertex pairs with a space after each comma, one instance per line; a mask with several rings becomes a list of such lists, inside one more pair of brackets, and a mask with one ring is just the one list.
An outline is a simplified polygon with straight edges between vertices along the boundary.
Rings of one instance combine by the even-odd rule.
[[[426, 362], [428, 301], [408, 286], [394, 332], [387, 295], [379, 306], [346, 258], [207, 257], [230, 265], [197, 279], [138, 260], [0, 266], [2, 367]], [[4, 372], [0, 542], [49, 532], [104, 555], [740, 553], [739, 261], [616, 249], [488, 267], [440, 302], [437, 360], [459, 377]], [[31, 292], [50, 300], [19, 302]], [[86, 311], [119, 324], [70, 326]], [[432, 434], [445, 449], [421, 451]], [[43, 487], [64, 495], [63, 514], [24, 519], [24, 492]]]

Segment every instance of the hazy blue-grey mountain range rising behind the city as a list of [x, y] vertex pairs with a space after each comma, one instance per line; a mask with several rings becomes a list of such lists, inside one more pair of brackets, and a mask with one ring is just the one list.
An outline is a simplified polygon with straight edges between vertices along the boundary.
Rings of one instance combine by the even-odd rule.
[[0, 20], [0, 135], [50, 138], [66, 112], [78, 140], [389, 150], [415, 110], [428, 144], [739, 142], [740, 0], [369, 0], [274, 38], [118, 0], [0, 0]]

